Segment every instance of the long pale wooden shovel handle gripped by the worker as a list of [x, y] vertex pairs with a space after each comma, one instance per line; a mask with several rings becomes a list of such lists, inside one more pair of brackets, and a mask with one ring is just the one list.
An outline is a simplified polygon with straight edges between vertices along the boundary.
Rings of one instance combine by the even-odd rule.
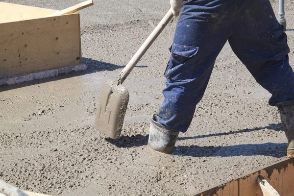
[[142, 56], [146, 53], [147, 49], [152, 45], [158, 35], [162, 32], [162, 30], [168, 25], [170, 20], [172, 19], [172, 8], [168, 11], [168, 13], [163, 17], [160, 23], [154, 28], [152, 33], [149, 35], [147, 40], [143, 43], [140, 49], [135, 53], [132, 59], [128, 62], [128, 64], [123, 68], [123, 71], [118, 76], [118, 84], [122, 84], [128, 74], [133, 70], [133, 68], [140, 61]]

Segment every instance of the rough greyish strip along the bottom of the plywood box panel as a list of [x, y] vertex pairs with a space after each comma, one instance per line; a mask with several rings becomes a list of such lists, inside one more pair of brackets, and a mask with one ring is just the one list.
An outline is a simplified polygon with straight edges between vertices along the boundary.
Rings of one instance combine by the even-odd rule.
[[53, 77], [53, 76], [57, 76], [62, 73], [79, 72], [79, 71], [86, 70], [86, 69], [87, 69], [86, 64], [80, 64], [80, 65], [58, 68], [58, 69], [54, 69], [54, 70], [45, 70], [45, 71], [27, 73], [27, 74], [22, 74], [22, 75], [13, 75], [13, 76], [9, 76], [9, 77], [0, 78], [0, 86], [1, 85], [12, 85], [12, 84], [25, 82], [25, 81], [46, 78], [46, 77]]

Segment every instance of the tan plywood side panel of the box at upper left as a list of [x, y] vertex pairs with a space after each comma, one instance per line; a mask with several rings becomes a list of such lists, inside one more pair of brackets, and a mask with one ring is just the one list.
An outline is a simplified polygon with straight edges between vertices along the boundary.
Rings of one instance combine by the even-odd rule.
[[0, 77], [78, 65], [79, 14], [0, 24]]

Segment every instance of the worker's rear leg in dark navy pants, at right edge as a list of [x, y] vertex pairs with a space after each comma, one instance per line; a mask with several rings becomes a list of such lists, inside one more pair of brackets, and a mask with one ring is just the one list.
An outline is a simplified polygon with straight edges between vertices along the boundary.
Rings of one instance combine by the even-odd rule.
[[[256, 81], [272, 95], [269, 104], [288, 111], [284, 123], [294, 124], [289, 113], [294, 100], [294, 73], [289, 65], [287, 35], [274, 15], [269, 0], [239, 0], [239, 9], [229, 43]], [[289, 102], [290, 101], [290, 102]], [[291, 103], [290, 106], [287, 104]], [[294, 111], [293, 111], [294, 114]], [[290, 121], [290, 122], [289, 122]], [[294, 154], [294, 126], [284, 126]]]

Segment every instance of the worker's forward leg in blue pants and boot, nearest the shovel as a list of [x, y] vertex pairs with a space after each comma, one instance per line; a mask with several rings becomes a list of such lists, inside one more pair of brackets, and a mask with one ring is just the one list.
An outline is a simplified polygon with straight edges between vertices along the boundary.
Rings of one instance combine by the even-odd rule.
[[191, 1], [180, 13], [165, 71], [164, 100], [151, 120], [149, 145], [158, 151], [170, 153], [178, 132], [187, 131], [215, 59], [231, 33], [235, 5], [209, 1]]

